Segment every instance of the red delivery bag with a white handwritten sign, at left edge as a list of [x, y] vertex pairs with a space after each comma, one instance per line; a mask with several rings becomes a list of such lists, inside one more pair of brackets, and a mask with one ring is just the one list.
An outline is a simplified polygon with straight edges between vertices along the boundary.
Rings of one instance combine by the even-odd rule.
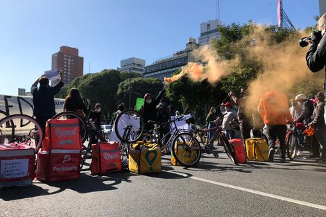
[[28, 144], [0, 144], [0, 189], [31, 185], [35, 176], [35, 149]]

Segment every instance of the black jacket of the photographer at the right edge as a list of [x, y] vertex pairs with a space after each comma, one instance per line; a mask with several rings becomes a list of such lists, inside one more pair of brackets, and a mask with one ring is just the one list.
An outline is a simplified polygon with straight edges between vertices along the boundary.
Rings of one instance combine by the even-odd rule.
[[[312, 72], [320, 71], [326, 64], [326, 34], [323, 35], [319, 44], [310, 47], [306, 55], [307, 65]], [[324, 95], [326, 96], [326, 77], [324, 80]]]

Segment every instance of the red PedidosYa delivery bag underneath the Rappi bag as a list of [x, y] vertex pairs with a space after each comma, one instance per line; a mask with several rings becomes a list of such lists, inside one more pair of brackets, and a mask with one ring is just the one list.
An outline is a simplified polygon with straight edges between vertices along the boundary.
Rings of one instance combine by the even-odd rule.
[[56, 182], [80, 177], [80, 150], [42, 150], [37, 153], [37, 180]]

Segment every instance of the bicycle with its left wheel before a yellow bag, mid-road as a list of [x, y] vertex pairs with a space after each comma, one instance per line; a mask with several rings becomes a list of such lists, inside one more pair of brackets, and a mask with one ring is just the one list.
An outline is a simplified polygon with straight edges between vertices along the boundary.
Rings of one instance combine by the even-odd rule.
[[[215, 130], [214, 137], [212, 137], [212, 139], [219, 139], [224, 147], [225, 153], [228, 155], [228, 157], [230, 157], [234, 164], [237, 164], [234, 156], [234, 149], [221, 128], [221, 116], [218, 117], [216, 123], [217, 126], [215, 128], [197, 128], [193, 133], [182, 132], [175, 136], [172, 141], [172, 153], [179, 164], [186, 167], [194, 166], [198, 164], [203, 153], [212, 154], [214, 157], [218, 157], [218, 152], [216, 150], [212, 150], [210, 141], [203, 138], [203, 135], [210, 130]], [[200, 141], [198, 141], [197, 138], [199, 138]], [[203, 144], [203, 147], [200, 144]], [[189, 159], [193, 159], [193, 161], [191, 162]]]

